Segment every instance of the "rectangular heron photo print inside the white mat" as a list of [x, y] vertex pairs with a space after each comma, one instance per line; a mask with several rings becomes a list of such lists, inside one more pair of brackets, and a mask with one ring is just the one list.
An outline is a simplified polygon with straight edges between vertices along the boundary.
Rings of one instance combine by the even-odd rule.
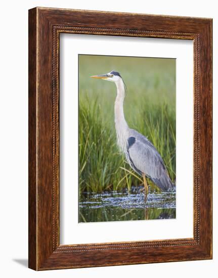
[[78, 72], [78, 221], [176, 218], [176, 59], [78, 55]]

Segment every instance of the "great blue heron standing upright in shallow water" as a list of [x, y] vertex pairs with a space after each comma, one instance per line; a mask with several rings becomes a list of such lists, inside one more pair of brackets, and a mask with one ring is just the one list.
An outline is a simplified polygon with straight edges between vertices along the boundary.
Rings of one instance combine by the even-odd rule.
[[173, 191], [175, 185], [170, 180], [164, 162], [153, 146], [144, 135], [129, 128], [123, 113], [123, 101], [125, 97], [125, 83], [120, 74], [111, 71], [107, 74], [93, 75], [93, 78], [112, 81], [116, 84], [117, 97], [115, 100], [115, 128], [117, 145], [125, 155], [130, 167], [143, 177], [145, 187], [145, 202], [148, 196], [148, 184], [146, 176], [149, 177], [161, 191]]

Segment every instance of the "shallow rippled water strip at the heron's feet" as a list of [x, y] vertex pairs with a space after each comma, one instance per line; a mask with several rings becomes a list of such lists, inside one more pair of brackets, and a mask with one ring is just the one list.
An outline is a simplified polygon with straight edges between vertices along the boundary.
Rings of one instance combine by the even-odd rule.
[[84, 193], [79, 202], [79, 222], [176, 218], [176, 193], [149, 194], [139, 190]]

